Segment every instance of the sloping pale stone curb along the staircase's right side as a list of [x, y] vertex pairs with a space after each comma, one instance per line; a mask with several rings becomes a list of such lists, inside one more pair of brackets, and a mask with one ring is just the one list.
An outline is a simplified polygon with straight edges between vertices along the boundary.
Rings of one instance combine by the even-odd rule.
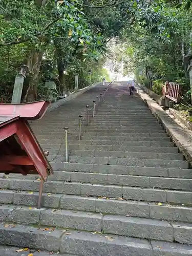
[[136, 86], [137, 93], [146, 102], [156, 119], [162, 124], [168, 136], [175, 142], [176, 146], [192, 165], [192, 137], [187, 130], [177, 124], [168, 114], [139, 86]]

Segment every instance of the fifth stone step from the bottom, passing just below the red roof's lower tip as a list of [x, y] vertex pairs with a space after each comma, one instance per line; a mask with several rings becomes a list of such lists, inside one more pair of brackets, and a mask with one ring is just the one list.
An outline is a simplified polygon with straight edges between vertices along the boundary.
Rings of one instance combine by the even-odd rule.
[[[20, 178], [20, 174], [4, 175], [5, 178]], [[27, 179], [39, 179], [40, 177], [28, 175]], [[25, 178], [23, 178], [25, 179]], [[151, 188], [167, 188], [173, 190], [192, 191], [192, 179], [173, 178], [173, 177], [151, 177], [144, 175], [120, 175], [120, 174], [98, 174], [86, 172], [55, 172], [50, 176], [49, 181], [69, 181], [103, 185], [120, 185], [133, 187], [151, 187]]]

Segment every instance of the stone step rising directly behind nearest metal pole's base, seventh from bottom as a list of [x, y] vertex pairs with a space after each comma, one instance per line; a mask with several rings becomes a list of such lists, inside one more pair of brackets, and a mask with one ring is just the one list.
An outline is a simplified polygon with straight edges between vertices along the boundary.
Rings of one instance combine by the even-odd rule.
[[[63, 156], [63, 159], [65, 157]], [[58, 160], [59, 161], [59, 160]], [[65, 162], [65, 161], [64, 161]], [[141, 158], [115, 158], [115, 157], [78, 157], [70, 156], [71, 163], [92, 163], [106, 165], [131, 165], [146, 167], [165, 167], [165, 168], [188, 168], [187, 161], [181, 160], [162, 160], [162, 159], [141, 159]]]

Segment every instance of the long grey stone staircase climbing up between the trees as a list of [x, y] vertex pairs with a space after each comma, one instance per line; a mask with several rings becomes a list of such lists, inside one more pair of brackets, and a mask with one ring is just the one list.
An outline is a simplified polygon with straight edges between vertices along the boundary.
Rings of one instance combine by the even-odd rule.
[[0, 256], [29, 253], [9, 246], [30, 247], [33, 256], [192, 255], [192, 172], [139, 96], [114, 83], [78, 141], [78, 115], [102, 90], [32, 124], [55, 173], [41, 209], [38, 176], [0, 179]]

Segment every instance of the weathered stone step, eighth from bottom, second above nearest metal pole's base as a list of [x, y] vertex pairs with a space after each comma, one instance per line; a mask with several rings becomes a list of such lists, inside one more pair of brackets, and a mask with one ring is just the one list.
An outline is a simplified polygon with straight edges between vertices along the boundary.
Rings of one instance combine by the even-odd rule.
[[[173, 159], [184, 160], [182, 154], [174, 153], [152, 153], [152, 152], [122, 152], [122, 151], [89, 151], [89, 150], [71, 150], [70, 156], [83, 156], [83, 157], [117, 157], [117, 158], [144, 158], [144, 159]], [[58, 158], [63, 158], [63, 155], [58, 155]], [[50, 155], [50, 159], [53, 155]]]

